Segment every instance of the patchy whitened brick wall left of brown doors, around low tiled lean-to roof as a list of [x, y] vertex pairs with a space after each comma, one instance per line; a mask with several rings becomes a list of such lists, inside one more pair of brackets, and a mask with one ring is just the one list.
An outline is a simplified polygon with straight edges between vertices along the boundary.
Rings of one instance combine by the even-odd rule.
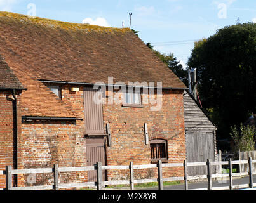
[[[83, 88], [82, 88], [83, 89]], [[74, 94], [62, 87], [62, 100], [84, 117], [83, 91]], [[86, 166], [84, 121], [24, 121], [22, 123], [22, 167]], [[61, 173], [60, 183], [86, 181], [87, 173]], [[52, 174], [37, 174], [32, 185], [53, 183]], [[31, 185], [24, 176], [22, 185]]]

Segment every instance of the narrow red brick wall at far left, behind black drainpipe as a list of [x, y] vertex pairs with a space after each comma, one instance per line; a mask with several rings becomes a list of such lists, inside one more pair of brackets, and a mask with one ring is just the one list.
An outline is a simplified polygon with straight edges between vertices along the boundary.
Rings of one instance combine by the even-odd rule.
[[[13, 161], [13, 101], [11, 91], [0, 91], [0, 170], [5, 167], [14, 167]], [[20, 136], [20, 96], [17, 97], [17, 133]], [[18, 140], [19, 141], [19, 140]], [[16, 143], [16, 141], [15, 141]], [[19, 143], [18, 143], [19, 145]], [[18, 166], [20, 156], [18, 155]], [[0, 175], [0, 188], [5, 188], [5, 176]]]

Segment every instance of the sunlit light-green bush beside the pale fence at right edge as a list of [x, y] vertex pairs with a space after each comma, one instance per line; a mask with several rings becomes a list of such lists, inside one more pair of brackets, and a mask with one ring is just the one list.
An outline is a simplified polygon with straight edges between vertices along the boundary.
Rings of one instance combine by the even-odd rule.
[[233, 138], [236, 145], [236, 152], [253, 151], [255, 147], [255, 127], [240, 125], [240, 129], [236, 126], [231, 127], [230, 136]]

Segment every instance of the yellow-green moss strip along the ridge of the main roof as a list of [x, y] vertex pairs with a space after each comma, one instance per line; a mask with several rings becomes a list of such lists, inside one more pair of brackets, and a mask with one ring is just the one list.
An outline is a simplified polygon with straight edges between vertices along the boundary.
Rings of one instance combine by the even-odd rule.
[[30, 17], [28, 15], [22, 15], [18, 13], [10, 13], [5, 11], [0, 11], [0, 18], [1, 17], [8, 17], [19, 19], [23, 22], [27, 23], [34, 23], [36, 25], [46, 25], [51, 27], [60, 27], [65, 30], [95, 30], [95, 31], [103, 31], [103, 32], [131, 32], [128, 28], [114, 28], [114, 27], [102, 27], [98, 25], [89, 25], [83, 23], [70, 23], [70, 22], [62, 22], [58, 20], [50, 20], [46, 18], [39, 18], [39, 17]]

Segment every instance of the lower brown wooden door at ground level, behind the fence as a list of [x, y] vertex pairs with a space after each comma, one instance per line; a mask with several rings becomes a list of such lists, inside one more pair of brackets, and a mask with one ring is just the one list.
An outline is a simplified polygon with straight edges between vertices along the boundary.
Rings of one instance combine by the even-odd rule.
[[[102, 166], [106, 165], [105, 161], [105, 140], [104, 138], [86, 139], [86, 156], [87, 166], [94, 166], [97, 162], [101, 162]], [[105, 171], [102, 171], [102, 180], [105, 180]], [[96, 171], [88, 171], [88, 181], [97, 181]]]

